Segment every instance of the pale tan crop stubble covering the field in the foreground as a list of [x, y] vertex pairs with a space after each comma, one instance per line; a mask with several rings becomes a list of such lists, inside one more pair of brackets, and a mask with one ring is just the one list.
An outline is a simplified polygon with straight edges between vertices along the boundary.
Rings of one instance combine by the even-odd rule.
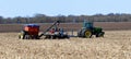
[[105, 37], [19, 39], [0, 33], [0, 59], [131, 59], [131, 31], [106, 31]]

